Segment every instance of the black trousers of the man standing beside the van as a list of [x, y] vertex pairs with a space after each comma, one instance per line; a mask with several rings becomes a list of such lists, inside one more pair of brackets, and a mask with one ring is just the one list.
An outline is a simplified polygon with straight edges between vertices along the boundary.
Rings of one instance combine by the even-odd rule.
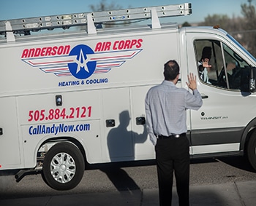
[[173, 171], [180, 206], [189, 205], [189, 140], [180, 138], [158, 139], [155, 146], [160, 206], [172, 204]]

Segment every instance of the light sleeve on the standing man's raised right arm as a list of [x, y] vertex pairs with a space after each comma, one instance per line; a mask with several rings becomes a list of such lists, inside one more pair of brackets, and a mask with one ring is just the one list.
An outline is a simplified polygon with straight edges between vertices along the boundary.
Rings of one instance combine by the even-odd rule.
[[203, 100], [198, 90], [193, 90], [193, 94], [187, 91], [186, 108], [198, 110], [203, 105]]

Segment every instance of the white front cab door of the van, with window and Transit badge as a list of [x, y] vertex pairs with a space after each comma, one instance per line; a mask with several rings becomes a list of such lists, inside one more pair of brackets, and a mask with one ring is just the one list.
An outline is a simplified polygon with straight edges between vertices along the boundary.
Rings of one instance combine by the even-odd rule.
[[[200, 58], [204, 47], [211, 58], [202, 79]], [[197, 74], [203, 98], [199, 111], [191, 111], [192, 154], [238, 152], [244, 127], [254, 118], [249, 88], [249, 64], [238, 49], [220, 36], [187, 33], [189, 71]]]

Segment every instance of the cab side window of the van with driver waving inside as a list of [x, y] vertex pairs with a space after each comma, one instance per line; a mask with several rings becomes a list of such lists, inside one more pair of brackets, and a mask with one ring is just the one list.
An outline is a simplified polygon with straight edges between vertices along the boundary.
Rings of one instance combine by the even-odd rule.
[[229, 90], [249, 91], [249, 65], [230, 47], [216, 40], [196, 40], [194, 47], [201, 82]]

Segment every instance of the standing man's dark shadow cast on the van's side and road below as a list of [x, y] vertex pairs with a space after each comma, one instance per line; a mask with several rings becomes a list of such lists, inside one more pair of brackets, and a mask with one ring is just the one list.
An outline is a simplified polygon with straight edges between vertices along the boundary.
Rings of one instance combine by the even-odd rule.
[[[128, 130], [130, 121], [129, 111], [122, 111], [119, 114], [120, 124], [108, 132], [108, 152], [111, 162], [116, 162], [118, 159], [123, 158], [128, 158], [131, 161], [134, 160], [135, 144], [146, 141], [146, 124], [143, 125], [143, 133], [138, 134], [137, 132]], [[140, 190], [137, 183], [121, 168], [120, 164], [112, 166], [108, 167], [105, 165], [100, 170], [108, 175], [108, 178], [118, 191]]]

